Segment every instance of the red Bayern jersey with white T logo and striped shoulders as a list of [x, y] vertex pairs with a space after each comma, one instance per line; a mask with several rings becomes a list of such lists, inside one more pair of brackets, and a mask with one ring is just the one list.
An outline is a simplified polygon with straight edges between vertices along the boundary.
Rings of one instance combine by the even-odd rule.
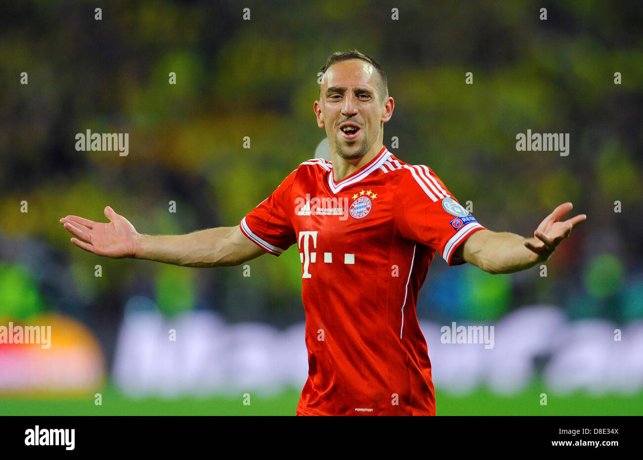
[[336, 182], [304, 161], [240, 222], [279, 256], [298, 245], [309, 373], [302, 415], [435, 415], [431, 360], [415, 304], [436, 252], [483, 229], [427, 166], [386, 147]]

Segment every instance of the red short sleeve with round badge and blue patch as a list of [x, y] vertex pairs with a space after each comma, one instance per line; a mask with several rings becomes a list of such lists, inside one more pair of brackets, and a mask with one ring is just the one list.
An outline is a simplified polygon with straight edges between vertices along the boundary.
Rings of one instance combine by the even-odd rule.
[[453, 252], [469, 235], [485, 229], [428, 166], [404, 166], [394, 203], [402, 235], [439, 252], [449, 265], [465, 263]]

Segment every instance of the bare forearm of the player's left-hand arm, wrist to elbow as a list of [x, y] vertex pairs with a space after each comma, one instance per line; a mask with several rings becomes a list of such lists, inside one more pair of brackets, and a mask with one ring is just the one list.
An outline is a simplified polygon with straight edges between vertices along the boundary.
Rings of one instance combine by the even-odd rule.
[[227, 267], [236, 265], [224, 248], [230, 246], [231, 227], [218, 227], [178, 235], [140, 234], [134, 258], [184, 267]]

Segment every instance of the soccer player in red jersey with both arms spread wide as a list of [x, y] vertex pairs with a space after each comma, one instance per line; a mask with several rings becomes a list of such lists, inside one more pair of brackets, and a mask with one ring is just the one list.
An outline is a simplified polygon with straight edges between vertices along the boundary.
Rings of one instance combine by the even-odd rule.
[[291, 172], [239, 226], [149, 236], [109, 206], [109, 224], [60, 219], [78, 247], [100, 256], [189, 267], [239, 265], [296, 244], [309, 375], [301, 415], [435, 415], [431, 361], [415, 304], [438, 253], [449, 265], [493, 274], [549, 258], [583, 221], [558, 206], [523, 238], [486, 229], [428, 166], [401, 161], [383, 145], [394, 108], [386, 75], [359, 51], [321, 67], [317, 125], [331, 160]]

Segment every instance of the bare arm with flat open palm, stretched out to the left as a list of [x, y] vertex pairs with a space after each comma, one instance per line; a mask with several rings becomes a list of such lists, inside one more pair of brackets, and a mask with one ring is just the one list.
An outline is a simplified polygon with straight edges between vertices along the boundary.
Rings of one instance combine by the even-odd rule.
[[109, 223], [67, 216], [60, 223], [74, 235], [71, 242], [85, 251], [112, 258], [131, 257], [186, 267], [229, 267], [265, 251], [239, 227], [218, 227], [181, 235], [140, 234], [125, 217], [105, 208]]

